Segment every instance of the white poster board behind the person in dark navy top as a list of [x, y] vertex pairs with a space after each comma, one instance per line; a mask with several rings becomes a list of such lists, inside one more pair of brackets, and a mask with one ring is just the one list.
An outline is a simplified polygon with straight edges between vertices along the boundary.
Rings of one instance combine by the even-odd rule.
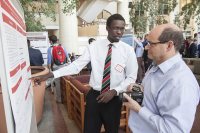
[[44, 59], [44, 64], [47, 65], [47, 50], [49, 48], [48, 32], [27, 32], [27, 39], [30, 40], [32, 48], [39, 49]]

